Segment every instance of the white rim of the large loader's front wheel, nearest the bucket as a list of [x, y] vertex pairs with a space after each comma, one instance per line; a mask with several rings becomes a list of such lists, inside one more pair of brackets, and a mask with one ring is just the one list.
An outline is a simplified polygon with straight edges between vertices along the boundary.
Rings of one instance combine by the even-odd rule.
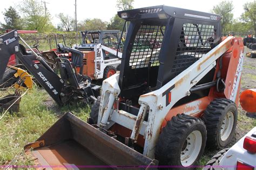
[[180, 162], [184, 167], [191, 166], [196, 161], [201, 150], [203, 137], [200, 131], [191, 132], [180, 152]]

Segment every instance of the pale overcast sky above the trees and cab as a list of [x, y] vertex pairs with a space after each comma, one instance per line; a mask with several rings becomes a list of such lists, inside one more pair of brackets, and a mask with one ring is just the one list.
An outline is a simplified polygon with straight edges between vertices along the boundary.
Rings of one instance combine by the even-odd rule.
[[[59, 19], [56, 15], [60, 12], [74, 16], [75, 13], [75, 0], [42, 0], [46, 1], [46, 6], [51, 13], [52, 23], [57, 25]], [[223, 0], [135, 0], [134, 8], [142, 8], [153, 5], [169, 5], [178, 8], [185, 8], [203, 12], [210, 12], [214, 5], [217, 5]], [[254, 0], [234, 0], [234, 18], [239, 18], [241, 13], [244, 12], [242, 5], [246, 2], [253, 2]], [[17, 8], [17, 4], [22, 0], [1, 0], [0, 5], [0, 22], [3, 22], [2, 12], [9, 6]], [[109, 22], [118, 11], [116, 8], [116, 0], [77, 0], [77, 19], [83, 21], [86, 18], [100, 18], [103, 21]]]

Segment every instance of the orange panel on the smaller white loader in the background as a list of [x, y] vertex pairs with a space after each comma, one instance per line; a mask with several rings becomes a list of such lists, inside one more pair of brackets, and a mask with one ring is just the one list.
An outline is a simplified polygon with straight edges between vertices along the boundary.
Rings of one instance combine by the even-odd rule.
[[95, 52], [83, 51], [84, 53], [84, 68], [83, 75], [89, 76], [91, 79], [95, 79]]

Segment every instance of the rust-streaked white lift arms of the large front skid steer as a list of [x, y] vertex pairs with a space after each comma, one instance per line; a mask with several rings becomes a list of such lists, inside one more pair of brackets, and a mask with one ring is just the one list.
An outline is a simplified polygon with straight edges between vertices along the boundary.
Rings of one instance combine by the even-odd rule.
[[[160, 126], [163, 123], [164, 118], [167, 113], [173, 107], [174, 104], [177, 103], [178, 100], [190, 95], [190, 89], [194, 85], [198, 83], [198, 81], [203, 78], [215, 65], [217, 60], [221, 55], [223, 55], [232, 45], [231, 42], [233, 37], [227, 37], [223, 42], [214, 47], [210, 52], [206, 53], [203, 57], [201, 57], [196, 63], [192, 64], [186, 70], [181, 72], [177, 77], [173, 78], [169, 83], [165, 84], [159, 90], [152, 91], [147, 94], [143, 94], [139, 97], [140, 111], [136, 120], [130, 121], [133, 122], [133, 125], [127, 125], [123, 123], [125, 119], [112, 119], [111, 114], [116, 114], [116, 110], [111, 109], [111, 111], [107, 110], [106, 106], [109, 105], [109, 101], [113, 101], [109, 99], [110, 93], [113, 94], [114, 98], [118, 100], [118, 95], [120, 93], [120, 88], [118, 86], [119, 73], [114, 74], [110, 78], [107, 78], [103, 81], [102, 86], [102, 100], [100, 102], [99, 108], [99, 117], [98, 117], [98, 125], [103, 125], [102, 117], [104, 114], [110, 115], [109, 124], [112, 124], [111, 121], [118, 121], [118, 124], [123, 124], [125, 127], [130, 128], [132, 131], [131, 139], [137, 140], [138, 132], [139, 134], [143, 134], [145, 138], [144, 144], [144, 152], [143, 154], [151, 159], [154, 158], [154, 150], [157, 144], [157, 140], [160, 133]], [[166, 95], [163, 95], [165, 92], [171, 92], [171, 102], [166, 104]], [[111, 103], [113, 106], [113, 103]], [[142, 119], [143, 109], [142, 107], [146, 106], [149, 109], [149, 119], [147, 123], [140, 121]], [[199, 110], [198, 110], [199, 112]], [[192, 113], [191, 113], [192, 114]], [[194, 114], [194, 113], [193, 113]], [[125, 114], [124, 114], [125, 115]], [[115, 115], [116, 116], [116, 115]], [[126, 115], [127, 116], [127, 115]], [[136, 127], [137, 125], [141, 125], [140, 127]], [[146, 125], [146, 127], [144, 127]], [[107, 128], [107, 126], [103, 126]], [[133, 127], [133, 128], [131, 128]], [[145, 131], [144, 131], [145, 128]], [[144, 133], [143, 133], [144, 131]]]

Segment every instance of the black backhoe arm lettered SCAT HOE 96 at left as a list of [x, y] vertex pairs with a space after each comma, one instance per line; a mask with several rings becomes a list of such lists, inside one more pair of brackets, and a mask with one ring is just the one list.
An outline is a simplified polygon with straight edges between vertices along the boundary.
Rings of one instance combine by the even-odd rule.
[[[65, 62], [58, 63], [60, 68], [59, 77], [41, 56], [38, 56], [32, 50], [32, 55], [26, 53], [25, 47], [19, 44], [19, 40], [29, 47], [29, 45], [18, 36], [16, 30], [0, 37], [0, 42], [2, 42], [0, 43], [2, 70], [3, 67], [5, 69], [6, 61], [8, 62], [9, 56], [15, 53], [26, 69], [28, 69], [39, 84], [44, 87], [53, 100], [60, 106], [68, 104], [71, 101], [77, 101], [78, 99], [82, 99], [85, 103], [90, 103], [90, 96], [97, 97], [99, 95], [99, 86], [92, 85], [86, 80], [78, 82], [73, 67], [82, 66], [83, 64], [83, 54], [80, 51], [67, 48], [67, 50], [72, 53], [72, 56], [76, 56], [76, 62], [73, 64], [70, 63], [69, 60], [65, 60]], [[36, 64], [34, 62], [35, 60], [38, 60], [39, 64]]]

